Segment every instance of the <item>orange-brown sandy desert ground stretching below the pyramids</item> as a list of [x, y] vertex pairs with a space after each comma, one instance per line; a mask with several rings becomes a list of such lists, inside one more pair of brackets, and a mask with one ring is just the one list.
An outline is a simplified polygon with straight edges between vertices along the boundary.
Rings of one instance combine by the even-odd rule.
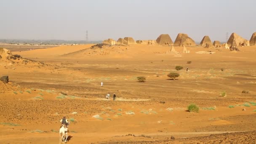
[[[23, 58], [0, 59], [0, 75], [10, 79], [0, 83], [1, 144], [59, 143], [63, 116], [69, 144], [255, 144], [255, 46], [212, 54], [201, 47], [187, 47], [190, 53], [175, 47], [171, 54], [158, 45], [90, 47], [16, 51]], [[171, 80], [169, 72], [180, 76]], [[191, 103], [198, 113], [187, 111]]]

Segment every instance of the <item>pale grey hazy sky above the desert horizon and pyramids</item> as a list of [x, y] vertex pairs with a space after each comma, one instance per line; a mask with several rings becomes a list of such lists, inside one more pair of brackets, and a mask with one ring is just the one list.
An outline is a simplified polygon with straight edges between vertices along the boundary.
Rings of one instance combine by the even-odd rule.
[[0, 0], [0, 39], [226, 40], [256, 32], [256, 0]]

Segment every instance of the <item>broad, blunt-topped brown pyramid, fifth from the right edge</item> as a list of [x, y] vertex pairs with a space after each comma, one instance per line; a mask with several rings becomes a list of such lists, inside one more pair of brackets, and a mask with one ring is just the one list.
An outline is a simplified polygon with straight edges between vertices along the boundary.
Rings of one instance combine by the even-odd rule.
[[195, 46], [196, 44], [195, 41], [192, 38], [190, 38], [187, 34], [179, 33], [175, 39], [174, 45]]

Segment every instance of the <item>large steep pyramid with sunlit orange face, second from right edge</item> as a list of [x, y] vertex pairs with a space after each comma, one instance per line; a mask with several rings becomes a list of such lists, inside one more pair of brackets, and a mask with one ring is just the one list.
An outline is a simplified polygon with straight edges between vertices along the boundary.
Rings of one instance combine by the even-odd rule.
[[244, 42], [245, 39], [234, 32], [230, 35], [229, 40], [227, 41], [227, 45], [231, 47], [244, 46], [246, 45]]

